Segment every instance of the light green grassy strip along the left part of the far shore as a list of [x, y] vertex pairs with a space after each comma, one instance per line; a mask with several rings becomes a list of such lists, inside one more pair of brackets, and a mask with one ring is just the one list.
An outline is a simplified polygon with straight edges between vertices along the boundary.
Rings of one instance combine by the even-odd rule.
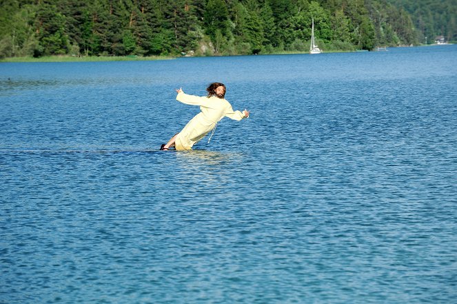
[[152, 61], [167, 60], [173, 57], [150, 56], [97, 56], [97, 57], [74, 57], [74, 56], [47, 56], [47, 57], [10, 57], [0, 59], [0, 62], [97, 62], [97, 61]]

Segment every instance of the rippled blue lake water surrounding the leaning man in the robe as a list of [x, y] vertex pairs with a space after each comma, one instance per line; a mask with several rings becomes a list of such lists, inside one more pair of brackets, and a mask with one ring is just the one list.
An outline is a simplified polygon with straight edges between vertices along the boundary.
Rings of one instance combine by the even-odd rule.
[[1, 63], [0, 303], [456, 303], [456, 105], [457, 45]]

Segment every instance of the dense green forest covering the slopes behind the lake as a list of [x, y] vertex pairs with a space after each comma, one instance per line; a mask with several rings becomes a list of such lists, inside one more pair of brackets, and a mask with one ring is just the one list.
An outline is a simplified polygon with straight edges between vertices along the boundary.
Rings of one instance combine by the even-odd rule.
[[0, 58], [306, 52], [312, 19], [327, 52], [455, 39], [456, 5], [438, 2], [427, 14], [412, 0], [0, 0]]

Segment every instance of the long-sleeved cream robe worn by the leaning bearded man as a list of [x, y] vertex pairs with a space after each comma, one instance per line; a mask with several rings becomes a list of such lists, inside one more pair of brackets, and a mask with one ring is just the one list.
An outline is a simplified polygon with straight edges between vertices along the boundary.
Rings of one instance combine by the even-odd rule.
[[236, 121], [245, 118], [245, 111], [234, 111], [228, 101], [215, 96], [198, 97], [179, 92], [176, 100], [187, 105], [200, 105], [201, 110], [176, 136], [176, 150], [192, 150], [192, 145], [203, 139], [224, 116]]

